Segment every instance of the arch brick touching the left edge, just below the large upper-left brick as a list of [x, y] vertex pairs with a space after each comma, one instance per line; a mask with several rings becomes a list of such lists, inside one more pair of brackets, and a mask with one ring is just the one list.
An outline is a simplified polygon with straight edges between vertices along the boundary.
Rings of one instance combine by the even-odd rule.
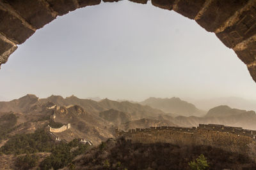
[[35, 32], [24, 26], [19, 18], [14, 17], [8, 11], [0, 9], [0, 18], [0, 32], [15, 43], [24, 43]]

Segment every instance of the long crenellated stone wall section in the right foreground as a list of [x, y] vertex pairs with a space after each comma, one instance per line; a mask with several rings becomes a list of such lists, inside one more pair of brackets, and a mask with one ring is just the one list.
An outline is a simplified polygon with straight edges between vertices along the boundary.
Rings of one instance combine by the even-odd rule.
[[199, 124], [198, 127], [150, 127], [118, 131], [116, 137], [124, 137], [132, 143], [172, 143], [173, 145], [209, 145], [231, 152], [256, 155], [256, 131], [242, 127], [216, 124]]

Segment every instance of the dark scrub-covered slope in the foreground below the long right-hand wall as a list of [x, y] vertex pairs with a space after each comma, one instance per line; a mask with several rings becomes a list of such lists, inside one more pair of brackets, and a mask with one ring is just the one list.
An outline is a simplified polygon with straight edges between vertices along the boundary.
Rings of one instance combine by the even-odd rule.
[[72, 163], [76, 169], [191, 169], [188, 163], [200, 154], [205, 156], [209, 169], [256, 168], [255, 162], [246, 155], [211, 146], [141, 144], [124, 139], [108, 140], [77, 156]]

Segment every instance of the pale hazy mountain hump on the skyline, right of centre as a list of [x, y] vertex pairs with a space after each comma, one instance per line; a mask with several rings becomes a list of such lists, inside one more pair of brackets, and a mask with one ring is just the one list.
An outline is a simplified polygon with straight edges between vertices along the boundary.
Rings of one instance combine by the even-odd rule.
[[150, 97], [140, 104], [151, 106], [152, 108], [157, 108], [164, 111], [165, 113], [173, 113], [175, 115], [182, 116], [202, 116], [205, 111], [199, 110], [194, 104], [182, 101], [178, 97], [172, 98], [155, 98]]

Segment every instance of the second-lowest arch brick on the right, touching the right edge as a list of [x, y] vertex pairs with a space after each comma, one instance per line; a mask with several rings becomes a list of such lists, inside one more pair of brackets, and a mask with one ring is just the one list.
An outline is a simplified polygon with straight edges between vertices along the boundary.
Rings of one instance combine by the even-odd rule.
[[249, 43], [246, 49], [235, 52], [237, 57], [239, 57], [245, 64], [250, 64], [250, 62], [255, 61], [256, 58], [256, 41]]

